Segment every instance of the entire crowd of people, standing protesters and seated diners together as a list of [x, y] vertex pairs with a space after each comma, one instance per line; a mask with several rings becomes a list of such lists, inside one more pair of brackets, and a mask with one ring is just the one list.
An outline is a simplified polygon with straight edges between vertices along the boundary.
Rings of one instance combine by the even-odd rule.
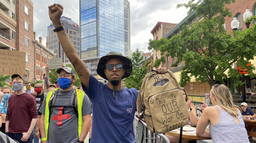
[[[91, 143], [134, 143], [133, 119], [139, 91], [122, 86], [122, 80], [132, 73], [131, 60], [118, 52], [101, 57], [97, 74], [108, 83], [98, 81], [72, 48], [60, 21], [63, 6], [53, 4], [48, 10], [63, 51], [82, 86], [74, 86], [76, 74], [63, 63], [62, 68], [56, 70], [58, 79], [55, 83], [49, 82], [48, 65], [44, 83], [34, 87], [25, 81], [26, 72], [23, 77], [12, 75], [12, 89], [9, 86], [0, 89], [0, 141], [4, 138], [19, 143], [39, 143], [39, 140], [42, 143], [84, 143], [89, 133]], [[163, 74], [167, 68], [157, 68], [156, 71]], [[189, 122], [198, 123], [198, 136], [212, 138], [214, 143], [248, 143], [249, 139], [254, 142], [251, 137], [248, 139], [243, 117], [256, 115], [247, 109], [246, 103], [242, 103], [242, 110], [233, 105], [227, 86], [216, 84], [212, 87], [210, 99], [214, 106], [208, 107], [201, 101], [203, 112], [199, 121], [196, 108], [184, 88], [182, 92]], [[205, 130], [209, 124], [209, 130]], [[234, 130], [237, 132], [233, 133]], [[171, 142], [179, 141], [177, 137], [167, 137]]]

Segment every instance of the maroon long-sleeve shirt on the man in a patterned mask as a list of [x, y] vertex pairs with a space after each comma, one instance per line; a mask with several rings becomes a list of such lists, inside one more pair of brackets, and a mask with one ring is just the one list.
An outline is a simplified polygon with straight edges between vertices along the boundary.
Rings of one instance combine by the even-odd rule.
[[27, 132], [32, 118], [38, 118], [35, 97], [25, 92], [13, 94], [8, 99], [8, 109], [5, 121], [9, 121], [9, 132]]

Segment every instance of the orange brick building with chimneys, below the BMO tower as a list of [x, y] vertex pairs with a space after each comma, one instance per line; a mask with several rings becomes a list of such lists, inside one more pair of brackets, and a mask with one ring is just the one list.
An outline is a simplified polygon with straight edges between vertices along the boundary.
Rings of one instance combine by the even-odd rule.
[[39, 41], [33, 39], [34, 46], [34, 73], [33, 79], [43, 80], [43, 74], [45, 74], [45, 66], [47, 63], [47, 59], [51, 59], [55, 57], [55, 53], [52, 50], [48, 49], [48, 43], [46, 43], [46, 47], [42, 45], [42, 37], [39, 37]]

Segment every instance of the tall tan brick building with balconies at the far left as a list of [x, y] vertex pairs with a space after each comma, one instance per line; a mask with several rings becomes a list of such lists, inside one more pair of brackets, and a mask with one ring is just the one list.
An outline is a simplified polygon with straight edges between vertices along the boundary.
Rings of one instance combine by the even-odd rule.
[[32, 81], [34, 72], [32, 40], [33, 3], [0, 0], [0, 49], [26, 52], [27, 81]]

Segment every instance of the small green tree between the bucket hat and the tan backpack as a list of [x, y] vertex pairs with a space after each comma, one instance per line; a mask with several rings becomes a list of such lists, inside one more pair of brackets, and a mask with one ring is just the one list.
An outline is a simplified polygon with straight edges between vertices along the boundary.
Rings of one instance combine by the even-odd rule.
[[[150, 64], [151, 61], [146, 62], [146, 60], [143, 60], [141, 52], [138, 48], [136, 49], [136, 52], [132, 53], [132, 59], [129, 59], [132, 62], [132, 73], [129, 77], [124, 79], [124, 87], [127, 87], [128, 89], [136, 88], [137, 90], [140, 90], [142, 79], [147, 74], [148, 64]], [[144, 62], [146, 62], [145, 66], [142, 66], [142, 63]]]

